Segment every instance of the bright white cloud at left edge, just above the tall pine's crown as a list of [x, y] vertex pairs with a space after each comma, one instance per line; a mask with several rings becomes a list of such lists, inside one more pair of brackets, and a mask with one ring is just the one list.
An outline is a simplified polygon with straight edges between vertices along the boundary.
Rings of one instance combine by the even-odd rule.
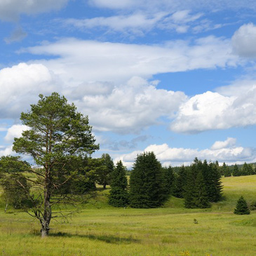
[[21, 111], [37, 101], [40, 93], [51, 93], [57, 81], [47, 67], [41, 64], [20, 63], [0, 70], [1, 118], [18, 118]]

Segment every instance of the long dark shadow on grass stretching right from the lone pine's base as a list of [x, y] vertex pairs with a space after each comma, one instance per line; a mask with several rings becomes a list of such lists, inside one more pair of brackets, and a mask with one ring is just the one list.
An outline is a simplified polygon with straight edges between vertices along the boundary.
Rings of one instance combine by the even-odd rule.
[[99, 240], [99, 241], [103, 241], [105, 243], [115, 243], [115, 244], [140, 243], [140, 240], [135, 239], [131, 236], [128, 238], [123, 238], [123, 237], [119, 237], [119, 236], [109, 236], [109, 235], [104, 235], [104, 234], [102, 234], [102, 235], [95, 235], [95, 234], [82, 235], [82, 234], [69, 234], [69, 233], [65, 233], [65, 232], [53, 233], [53, 234], [49, 234], [49, 236], [89, 238], [91, 240]]

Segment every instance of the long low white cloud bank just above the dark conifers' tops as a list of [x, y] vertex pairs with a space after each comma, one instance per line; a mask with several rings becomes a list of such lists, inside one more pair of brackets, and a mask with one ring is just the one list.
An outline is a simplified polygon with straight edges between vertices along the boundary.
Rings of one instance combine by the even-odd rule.
[[[252, 162], [256, 160], [256, 149], [248, 147], [237, 147], [228, 138], [226, 142], [215, 142], [211, 149], [184, 149], [184, 148], [173, 148], [169, 147], [168, 144], [151, 144], [143, 151], [153, 151], [156, 154], [156, 158], [163, 163], [163, 165], [180, 166], [182, 164], [189, 165], [195, 157], [198, 159], [206, 159], [208, 161], [220, 161], [220, 163], [244, 163]], [[235, 140], [235, 139], [234, 139]], [[221, 147], [216, 145], [222, 144]], [[227, 147], [224, 147], [227, 145]], [[133, 151], [130, 154], [123, 154], [116, 157], [114, 161], [122, 160], [123, 163], [131, 168], [137, 157], [137, 154], [141, 154], [143, 151]]]

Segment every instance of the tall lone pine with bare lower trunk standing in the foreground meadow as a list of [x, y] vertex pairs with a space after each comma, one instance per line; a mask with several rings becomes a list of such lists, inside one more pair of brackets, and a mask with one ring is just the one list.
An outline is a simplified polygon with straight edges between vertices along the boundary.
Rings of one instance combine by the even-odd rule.
[[[68, 104], [58, 93], [39, 95], [39, 98], [29, 112], [21, 113], [20, 120], [29, 130], [14, 139], [13, 150], [32, 156], [34, 163], [41, 167], [32, 170], [37, 179], [30, 182], [40, 189], [36, 192], [40, 203], [30, 214], [40, 221], [43, 237], [48, 235], [50, 220], [57, 217], [52, 213], [52, 206], [67, 198], [60, 188], [79, 172], [76, 162], [93, 154], [99, 146], [95, 144], [88, 116], [77, 112], [74, 104]], [[70, 171], [67, 166], [74, 168]]]

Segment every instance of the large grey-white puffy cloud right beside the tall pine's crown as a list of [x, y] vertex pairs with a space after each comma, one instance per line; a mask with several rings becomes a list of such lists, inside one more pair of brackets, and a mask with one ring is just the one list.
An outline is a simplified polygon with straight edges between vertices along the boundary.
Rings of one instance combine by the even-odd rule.
[[109, 93], [96, 96], [81, 94], [81, 100], [74, 102], [90, 116], [96, 130], [138, 133], [159, 123], [161, 116], [174, 116], [186, 98], [182, 92], [157, 89], [154, 83], [133, 77], [123, 86], [115, 86]]

